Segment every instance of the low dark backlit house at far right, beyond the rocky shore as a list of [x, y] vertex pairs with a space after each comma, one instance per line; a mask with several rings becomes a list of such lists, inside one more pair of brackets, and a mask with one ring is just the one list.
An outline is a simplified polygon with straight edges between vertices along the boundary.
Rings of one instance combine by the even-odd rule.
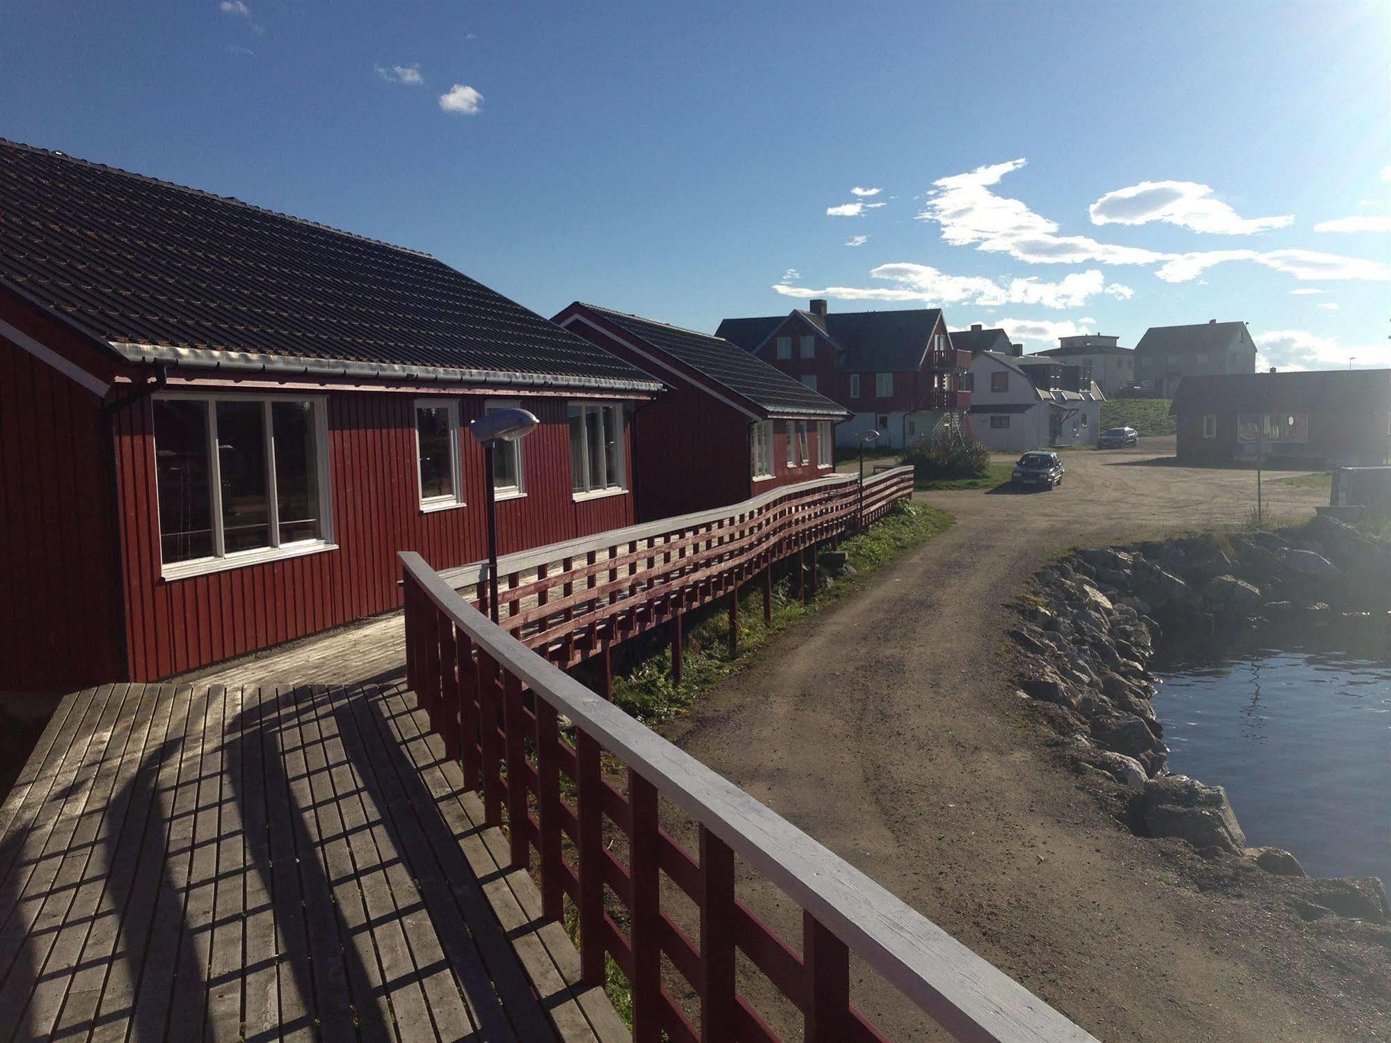
[[1178, 459], [1312, 467], [1391, 459], [1391, 370], [1184, 377], [1170, 412]]

